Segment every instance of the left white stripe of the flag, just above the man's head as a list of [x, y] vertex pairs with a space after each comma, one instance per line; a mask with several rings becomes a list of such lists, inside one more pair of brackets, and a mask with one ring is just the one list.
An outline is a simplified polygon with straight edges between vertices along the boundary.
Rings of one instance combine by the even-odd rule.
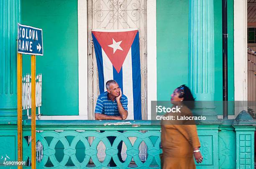
[[103, 60], [103, 73], [104, 73], [104, 91], [106, 92], [106, 82], [108, 80], [113, 80], [113, 65], [110, 62], [107, 54], [102, 49], [102, 60]]

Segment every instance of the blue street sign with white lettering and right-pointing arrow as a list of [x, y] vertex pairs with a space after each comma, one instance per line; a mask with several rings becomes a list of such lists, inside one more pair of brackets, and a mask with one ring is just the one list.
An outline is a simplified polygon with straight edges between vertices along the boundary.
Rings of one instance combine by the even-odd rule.
[[18, 23], [18, 53], [43, 56], [43, 30]]

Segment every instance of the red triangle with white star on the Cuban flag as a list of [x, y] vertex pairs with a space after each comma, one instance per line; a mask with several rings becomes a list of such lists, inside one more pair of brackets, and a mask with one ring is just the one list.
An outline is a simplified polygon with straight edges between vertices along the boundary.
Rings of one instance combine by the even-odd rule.
[[104, 31], [106, 30], [93, 30], [92, 33], [115, 67], [115, 70], [119, 73], [138, 30], [123, 32]]

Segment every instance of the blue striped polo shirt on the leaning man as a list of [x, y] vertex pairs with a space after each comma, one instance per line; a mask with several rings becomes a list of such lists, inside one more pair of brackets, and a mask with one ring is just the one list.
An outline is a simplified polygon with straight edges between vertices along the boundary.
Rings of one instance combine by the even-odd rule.
[[[128, 111], [128, 99], [124, 94], [122, 94], [120, 102], [123, 108]], [[98, 97], [95, 107], [95, 113], [105, 114], [109, 116], [120, 116], [120, 113], [118, 112], [117, 102], [116, 100], [114, 100], [113, 102], [108, 97], [108, 92], [104, 92]]]

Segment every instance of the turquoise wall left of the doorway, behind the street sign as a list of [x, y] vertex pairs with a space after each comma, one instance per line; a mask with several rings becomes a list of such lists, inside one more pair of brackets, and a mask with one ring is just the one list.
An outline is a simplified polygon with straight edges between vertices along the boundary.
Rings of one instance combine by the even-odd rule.
[[[21, 0], [21, 24], [43, 29], [44, 56], [36, 57], [41, 113], [78, 115], [77, 0]], [[31, 72], [30, 64], [23, 55], [23, 75]]]

